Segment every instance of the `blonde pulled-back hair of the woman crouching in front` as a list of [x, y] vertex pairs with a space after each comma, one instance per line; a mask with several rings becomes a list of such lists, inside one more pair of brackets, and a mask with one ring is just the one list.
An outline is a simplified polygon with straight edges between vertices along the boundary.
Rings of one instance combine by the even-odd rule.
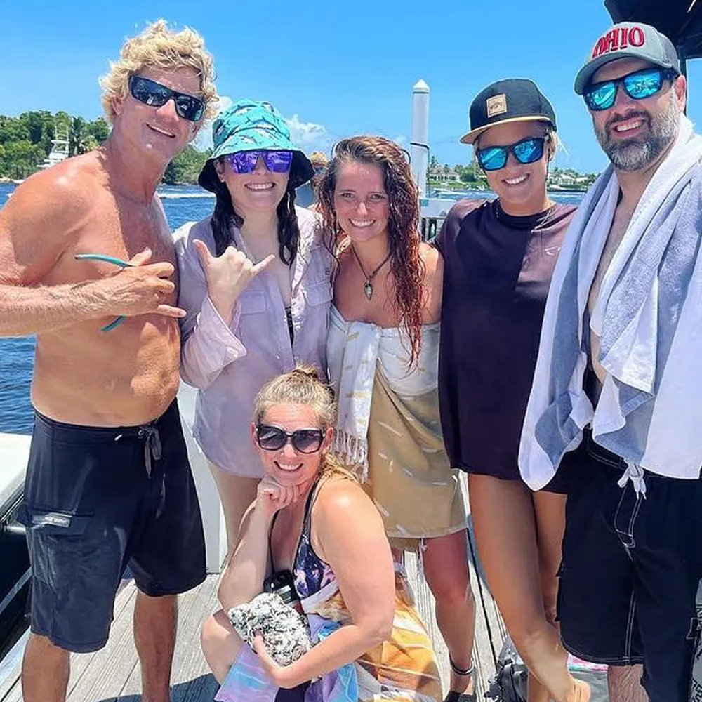
[[[299, 365], [292, 371], [269, 380], [253, 401], [253, 423], [258, 425], [270, 407], [277, 404], [298, 404], [310, 407], [320, 429], [333, 427], [336, 402], [331, 385], [324, 383], [313, 366]], [[353, 472], [340, 459], [327, 451], [320, 456], [320, 475], [340, 475], [355, 480]]]

